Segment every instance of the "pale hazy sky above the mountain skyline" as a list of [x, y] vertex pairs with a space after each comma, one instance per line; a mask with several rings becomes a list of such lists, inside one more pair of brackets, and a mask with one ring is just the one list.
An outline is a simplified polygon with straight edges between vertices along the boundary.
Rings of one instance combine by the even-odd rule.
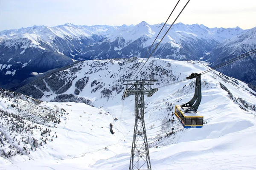
[[[187, 0], [180, 0], [177, 12]], [[177, 0], [0, 0], [0, 31], [34, 25], [163, 23]], [[256, 27], [256, 0], [190, 0], [177, 22], [213, 27]], [[176, 22], [176, 23], [177, 23]]]

